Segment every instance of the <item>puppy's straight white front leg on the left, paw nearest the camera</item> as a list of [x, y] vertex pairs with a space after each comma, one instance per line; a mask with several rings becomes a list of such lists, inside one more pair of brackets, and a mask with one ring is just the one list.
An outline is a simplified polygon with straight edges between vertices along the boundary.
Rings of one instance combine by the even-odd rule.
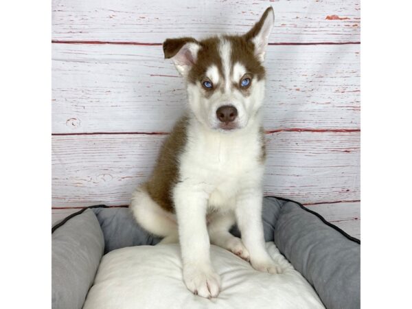
[[174, 188], [173, 198], [179, 226], [183, 281], [195, 295], [216, 297], [219, 294], [220, 277], [210, 262], [206, 226], [207, 194], [198, 186], [179, 183]]

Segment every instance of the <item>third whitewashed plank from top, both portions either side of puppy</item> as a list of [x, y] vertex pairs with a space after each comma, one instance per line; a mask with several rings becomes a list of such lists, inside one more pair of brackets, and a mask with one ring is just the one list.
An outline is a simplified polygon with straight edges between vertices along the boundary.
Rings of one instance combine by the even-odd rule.
[[[165, 135], [52, 137], [54, 207], [128, 205], [148, 179]], [[266, 195], [301, 203], [359, 199], [359, 141], [354, 133], [266, 135]]]

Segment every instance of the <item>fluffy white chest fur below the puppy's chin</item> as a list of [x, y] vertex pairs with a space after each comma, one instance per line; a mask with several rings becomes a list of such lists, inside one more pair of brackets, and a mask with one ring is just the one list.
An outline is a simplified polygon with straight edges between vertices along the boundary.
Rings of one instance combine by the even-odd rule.
[[205, 130], [191, 122], [179, 165], [180, 181], [202, 190], [209, 206], [231, 207], [242, 187], [260, 186], [262, 163], [260, 126], [233, 133]]

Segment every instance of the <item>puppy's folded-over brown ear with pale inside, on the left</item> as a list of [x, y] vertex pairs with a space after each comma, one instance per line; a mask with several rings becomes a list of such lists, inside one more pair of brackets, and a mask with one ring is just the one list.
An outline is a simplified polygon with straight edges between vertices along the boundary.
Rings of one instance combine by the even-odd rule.
[[165, 59], [171, 58], [177, 71], [186, 77], [196, 62], [200, 43], [194, 38], [168, 38], [163, 42]]

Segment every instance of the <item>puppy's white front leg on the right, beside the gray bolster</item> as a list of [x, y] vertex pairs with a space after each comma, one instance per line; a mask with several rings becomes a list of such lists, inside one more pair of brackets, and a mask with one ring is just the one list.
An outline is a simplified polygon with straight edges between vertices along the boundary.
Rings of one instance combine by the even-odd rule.
[[268, 255], [264, 243], [262, 196], [262, 189], [244, 188], [236, 203], [236, 219], [253, 268], [268, 273], [281, 273], [281, 268]]

